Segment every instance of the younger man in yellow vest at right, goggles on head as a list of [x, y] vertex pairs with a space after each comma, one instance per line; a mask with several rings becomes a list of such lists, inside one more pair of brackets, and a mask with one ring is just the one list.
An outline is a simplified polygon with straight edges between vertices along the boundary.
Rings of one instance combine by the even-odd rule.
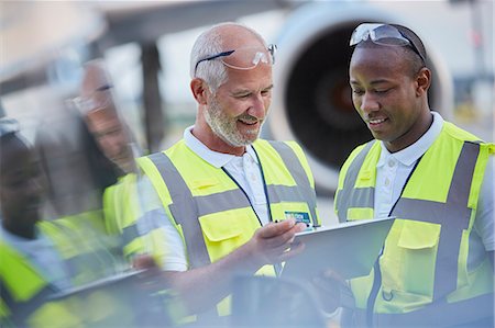
[[413, 31], [361, 24], [350, 45], [353, 103], [375, 140], [343, 165], [336, 212], [397, 217], [372, 273], [351, 281], [351, 320], [493, 327], [494, 145], [430, 111], [433, 77]]

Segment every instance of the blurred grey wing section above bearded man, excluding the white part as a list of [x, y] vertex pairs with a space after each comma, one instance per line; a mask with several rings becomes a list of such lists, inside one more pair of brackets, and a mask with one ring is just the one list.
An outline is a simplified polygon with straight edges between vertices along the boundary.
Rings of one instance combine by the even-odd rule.
[[194, 0], [98, 2], [107, 18], [108, 30], [101, 46], [135, 42], [151, 43], [166, 33], [179, 32], [268, 10], [289, 8], [290, 0]]

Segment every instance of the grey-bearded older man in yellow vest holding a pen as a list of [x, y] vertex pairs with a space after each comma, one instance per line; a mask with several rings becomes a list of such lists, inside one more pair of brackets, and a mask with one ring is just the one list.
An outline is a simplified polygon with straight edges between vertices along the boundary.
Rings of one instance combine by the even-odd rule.
[[190, 313], [209, 307], [228, 315], [228, 302], [211, 307], [230, 293], [235, 274], [274, 275], [300, 250], [288, 250], [294, 235], [319, 225], [301, 148], [258, 139], [274, 50], [243, 25], [204, 32], [190, 57], [196, 123], [169, 149], [140, 160], [174, 228], [168, 275]]

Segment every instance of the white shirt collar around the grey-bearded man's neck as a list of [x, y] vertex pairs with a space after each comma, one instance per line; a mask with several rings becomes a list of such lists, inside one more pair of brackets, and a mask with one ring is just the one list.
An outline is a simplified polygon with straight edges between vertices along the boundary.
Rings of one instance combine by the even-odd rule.
[[[190, 148], [190, 150], [193, 150], [205, 161], [207, 161], [208, 163], [210, 163], [216, 168], [221, 168], [235, 159], [235, 155], [218, 152], [208, 148], [204, 143], [201, 143], [197, 137], [193, 135], [191, 133], [193, 128], [194, 125], [187, 127], [184, 131], [184, 142], [186, 143], [186, 146]], [[244, 154], [244, 156], [245, 155], [251, 156], [254, 159], [254, 161], [257, 162], [257, 157], [256, 154], [254, 152], [253, 147], [251, 145], [248, 145], [245, 149], [246, 154]]]

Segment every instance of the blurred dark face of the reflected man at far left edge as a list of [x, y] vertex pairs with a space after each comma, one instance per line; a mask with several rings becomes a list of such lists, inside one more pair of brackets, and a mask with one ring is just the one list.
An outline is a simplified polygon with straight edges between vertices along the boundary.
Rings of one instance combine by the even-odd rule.
[[0, 203], [3, 228], [13, 235], [35, 238], [40, 220], [42, 174], [35, 154], [19, 137], [2, 137]]

